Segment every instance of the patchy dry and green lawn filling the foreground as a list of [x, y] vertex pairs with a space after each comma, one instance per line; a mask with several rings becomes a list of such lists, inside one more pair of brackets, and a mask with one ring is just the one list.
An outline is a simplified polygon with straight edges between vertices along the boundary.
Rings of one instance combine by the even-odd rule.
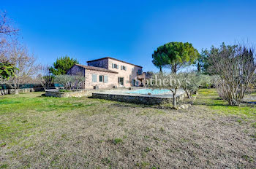
[[0, 97], [0, 168], [255, 168], [256, 107], [200, 90], [189, 109]]

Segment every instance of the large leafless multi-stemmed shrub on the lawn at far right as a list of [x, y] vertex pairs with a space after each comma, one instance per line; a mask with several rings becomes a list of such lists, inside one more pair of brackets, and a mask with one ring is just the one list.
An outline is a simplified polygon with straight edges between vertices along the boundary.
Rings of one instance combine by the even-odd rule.
[[209, 52], [211, 70], [219, 75], [219, 96], [235, 106], [241, 103], [250, 83], [254, 82], [256, 69], [254, 47], [249, 45], [225, 45], [212, 47]]

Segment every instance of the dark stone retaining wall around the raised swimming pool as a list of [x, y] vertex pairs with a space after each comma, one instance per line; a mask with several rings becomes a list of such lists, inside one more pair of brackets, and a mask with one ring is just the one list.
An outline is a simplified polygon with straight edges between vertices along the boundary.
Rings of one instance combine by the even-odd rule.
[[[186, 94], [178, 95], [176, 101], [181, 101]], [[106, 93], [92, 93], [93, 98], [101, 98], [110, 101], [121, 101], [128, 103], [139, 103], [139, 104], [164, 104], [164, 103], [173, 103], [173, 98], [160, 98], [148, 95], [118, 95], [118, 94], [106, 94]]]

